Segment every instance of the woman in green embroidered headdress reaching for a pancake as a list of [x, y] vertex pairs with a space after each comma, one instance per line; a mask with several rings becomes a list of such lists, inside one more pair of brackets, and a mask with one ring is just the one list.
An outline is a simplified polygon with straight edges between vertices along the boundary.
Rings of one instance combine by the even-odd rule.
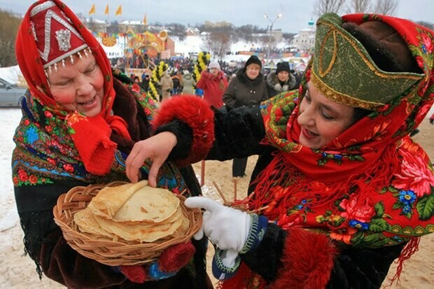
[[[434, 102], [434, 31], [398, 17], [326, 13], [315, 40], [300, 90], [215, 111], [208, 150], [195, 125], [190, 138], [170, 136], [176, 145], [159, 146], [158, 156], [138, 154], [167, 143], [150, 138], [127, 159], [135, 182], [148, 157], [259, 155], [246, 199], [232, 207], [186, 200], [206, 210], [202, 228], [216, 246], [219, 288], [381, 288], [393, 261], [391, 281], [433, 232], [433, 168], [409, 134]], [[160, 131], [179, 121], [180, 106], [162, 106]], [[184, 105], [182, 113], [189, 109], [197, 111]], [[194, 154], [199, 148], [203, 155]]]

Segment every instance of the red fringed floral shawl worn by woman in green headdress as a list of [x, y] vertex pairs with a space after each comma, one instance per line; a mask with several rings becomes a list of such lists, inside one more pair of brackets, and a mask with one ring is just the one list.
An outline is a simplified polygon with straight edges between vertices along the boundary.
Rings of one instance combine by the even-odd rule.
[[[255, 195], [248, 204], [251, 209], [268, 206], [262, 213], [284, 230], [310, 228], [365, 248], [405, 241], [411, 247], [417, 244], [415, 237], [434, 232], [433, 167], [409, 137], [434, 101], [434, 34], [394, 17], [355, 14], [343, 19], [361, 23], [372, 17], [381, 17], [398, 31], [425, 77], [414, 90], [359, 120], [325, 148], [312, 150], [300, 146], [297, 123], [309, 65], [299, 92], [262, 104], [265, 143], [279, 150], [255, 181]], [[238, 275], [248, 276], [245, 269]], [[222, 288], [230, 283], [231, 279], [223, 282]]]

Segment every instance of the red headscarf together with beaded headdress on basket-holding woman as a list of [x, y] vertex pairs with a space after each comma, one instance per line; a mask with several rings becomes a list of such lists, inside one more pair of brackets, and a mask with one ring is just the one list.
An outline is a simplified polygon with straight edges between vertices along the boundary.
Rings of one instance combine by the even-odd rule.
[[[48, 73], [62, 69], [73, 55], [90, 51], [104, 75], [104, 97], [99, 115], [88, 118], [78, 111], [66, 111], [52, 97]], [[25, 14], [16, 41], [16, 56], [31, 92], [30, 106], [41, 104], [55, 118], [64, 120], [85, 168], [104, 175], [113, 162], [116, 143], [111, 130], [130, 139], [126, 122], [111, 115], [115, 98], [111, 65], [101, 45], [78, 17], [61, 1], [41, 0]], [[63, 62], [63, 63], [62, 63]]]

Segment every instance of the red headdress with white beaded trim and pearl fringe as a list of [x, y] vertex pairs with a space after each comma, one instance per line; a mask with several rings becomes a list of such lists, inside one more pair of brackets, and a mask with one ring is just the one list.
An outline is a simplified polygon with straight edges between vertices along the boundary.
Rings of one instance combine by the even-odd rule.
[[45, 76], [57, 71], [57, 66], [65, 67], [69, 59], [73, 64], [73, 55], [80, 59], [82, 53], [90, 53], [83, 37], [73, 27], [71, 20], [53, 1], [45, 1], [30, 12], [31, 31], [43, 61]]

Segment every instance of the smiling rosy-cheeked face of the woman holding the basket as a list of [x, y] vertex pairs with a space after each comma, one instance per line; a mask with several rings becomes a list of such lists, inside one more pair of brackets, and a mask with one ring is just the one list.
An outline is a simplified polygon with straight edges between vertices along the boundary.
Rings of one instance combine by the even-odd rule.
[[79, 111], [89, 117], [101, 112], [104, 97], [104, 76], [92, 54], [74, 57], [65, 68], [52, 70], [48, 76], [52, 97], [68, 111]]

